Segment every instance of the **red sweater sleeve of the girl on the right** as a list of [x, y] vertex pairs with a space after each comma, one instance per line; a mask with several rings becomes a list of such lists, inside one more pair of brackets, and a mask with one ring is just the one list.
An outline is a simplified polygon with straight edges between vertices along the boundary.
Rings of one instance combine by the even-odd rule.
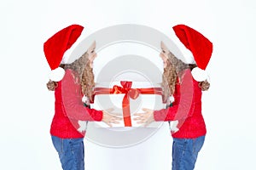
[[175, 101], [172, 107], [154, 111], [155, 121], [176, 121], [193, 115], [195, 107], [195, 86], [190, 71], [184, 71], [183, 80], [175, 87]]

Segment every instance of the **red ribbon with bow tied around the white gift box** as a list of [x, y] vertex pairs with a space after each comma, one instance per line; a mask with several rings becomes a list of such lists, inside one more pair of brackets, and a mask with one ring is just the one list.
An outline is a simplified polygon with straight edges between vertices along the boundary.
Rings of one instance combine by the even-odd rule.
[[139, 94], [162, 95], [162, 88], [131, 88], [132, 82], [121, 81], [122, 87], [114, 85], [113, 88], [95, 88], [97, 94], [125, 94], [122, 101], [122, 109], [125, 127], [131, 127], [130, 98], [137, 99]]

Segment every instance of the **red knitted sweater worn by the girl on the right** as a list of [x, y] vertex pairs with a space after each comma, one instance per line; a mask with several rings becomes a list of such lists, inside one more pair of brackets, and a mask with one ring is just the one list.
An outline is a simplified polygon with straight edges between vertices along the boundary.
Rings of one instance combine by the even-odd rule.
[[191, 90], [194, 89], [194, 91], [190, 99], [192, 102], [186, 104], [184, 101], [181, 102], [180, 89], [182, 85], [182, 83], [181, 85], [176, 85], [175, 93], [173, 94], [175, 101], [172, 107], [169, 107], [167, 110], [154, 111], [154, 120], [178, 120], [177, 127], [179, 130], [176, 133], [172, 132], [173, 138], [193, 139], [206, 135], [206, 124], [201, 114], [201, 88], [198, 86], [198, 82], [193, 79], [193, 87], [191, 87]]

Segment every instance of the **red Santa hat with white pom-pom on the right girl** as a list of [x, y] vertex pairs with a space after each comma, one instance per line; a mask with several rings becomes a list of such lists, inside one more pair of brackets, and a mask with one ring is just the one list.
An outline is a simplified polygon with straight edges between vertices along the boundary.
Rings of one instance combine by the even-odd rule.
[[207, 80], [208, 76], [205, 70], [212, 56], [212, 42], [189, 26], [177, 25], [172, 28], [180, 42], [194, 56], [197, 65], [191, 72], [194, 79], [198, 82]]

